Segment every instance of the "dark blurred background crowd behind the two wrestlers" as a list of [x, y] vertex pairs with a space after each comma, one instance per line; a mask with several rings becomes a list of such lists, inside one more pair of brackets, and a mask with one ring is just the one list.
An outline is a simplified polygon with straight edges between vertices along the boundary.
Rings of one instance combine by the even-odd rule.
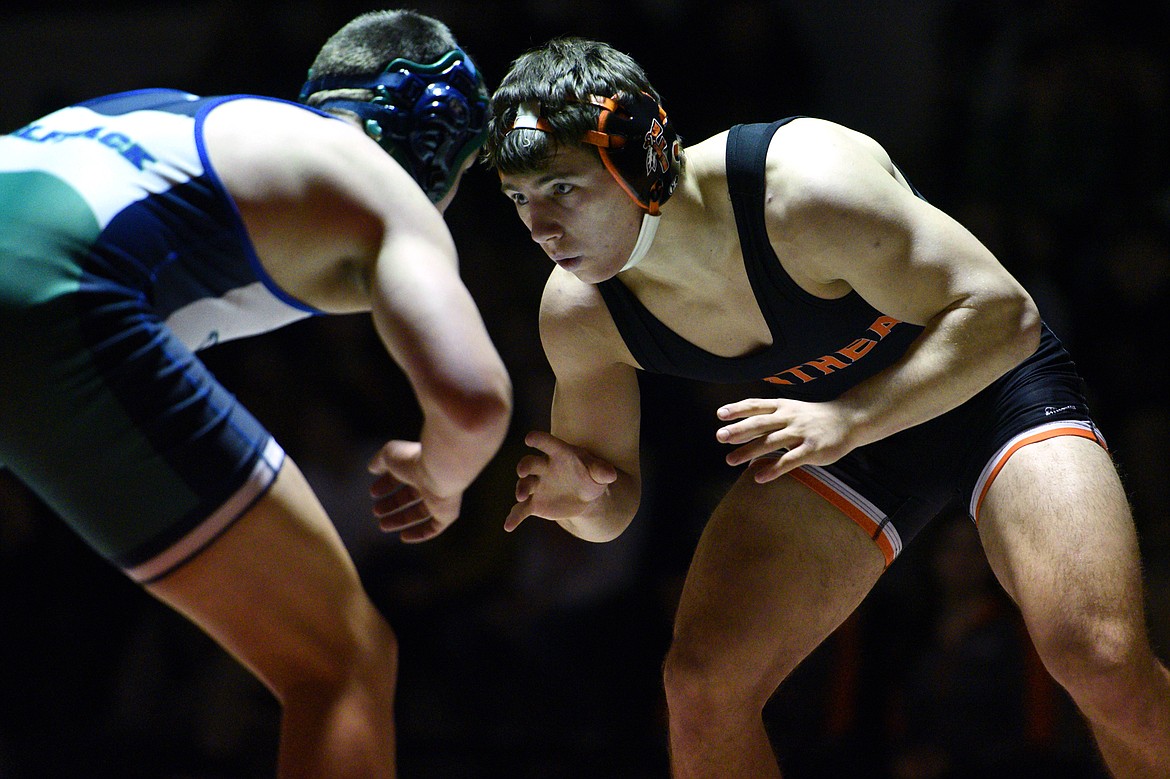
[[[606, 40], [647, 69], [684, 143], [812, 115], [878, 138], [1032, 291], [1090, 384], [1170, 653], [1170, 47], [1166, 4], [1092, 0], [417, 0], [494, 85], [544, 40]], [[295, 98], [351, 0], [12, 0], [0, 132], [97, 94]], [[690, 552], [736, 473], [715, 408], [759, 387], [644, 377], [646, 490], [617, 542], [502, 530], [551, 374], [551, 266], [474, 170], [448, 211], [516, 388], [512, 433], [462, 518], [420, 546], [370, 516], [365, 462], [418, 412], [365, 317], [204, 353], [305, 470], [402, 647], [405, 779], [666, 775], [660, 663]], [[0, 370], [5, 370], [0, 366]], [[102, 453], [95, 451], [94, 457]], [[70, 463], [85, 468], [84, 462]], [[256, 604], [262, 608], [263, 604]], [[277, 710], [195, 628], [0, 471], [0, 778], [271, 775]], [[765, 711], [790, 779], [1102, 779], [971, 523], [940, 519]]]

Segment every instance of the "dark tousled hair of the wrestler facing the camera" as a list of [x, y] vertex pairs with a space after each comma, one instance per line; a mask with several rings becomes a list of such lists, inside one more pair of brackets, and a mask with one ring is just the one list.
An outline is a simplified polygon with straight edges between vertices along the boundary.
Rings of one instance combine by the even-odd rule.
[[[558, 145], [576, 145], [597, 129], [600, 108], [590, 95], [613, 97], [646, 92], [661, 102], [646, 71], [633, 57], [608, 43], [558, 37], [512, 62], [491, 97], [486, 161], [502, 173], [542, 170]], [[548, 131], [512, 130], [522, 103], [539, 103]]]

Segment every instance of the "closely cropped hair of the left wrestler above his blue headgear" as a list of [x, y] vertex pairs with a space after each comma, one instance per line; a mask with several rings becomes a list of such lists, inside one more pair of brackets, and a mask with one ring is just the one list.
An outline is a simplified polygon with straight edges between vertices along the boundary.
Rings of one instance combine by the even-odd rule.
[[[357, 16], [333, 33], [321, 47], [309, 75], [372, 76], [380, 74], [394, 60], [419, 64], [436, 62], [459, 48], [447, 25], [417, 11], [371, 11]], [[316, 105], [324, 94], [305, 96]]]

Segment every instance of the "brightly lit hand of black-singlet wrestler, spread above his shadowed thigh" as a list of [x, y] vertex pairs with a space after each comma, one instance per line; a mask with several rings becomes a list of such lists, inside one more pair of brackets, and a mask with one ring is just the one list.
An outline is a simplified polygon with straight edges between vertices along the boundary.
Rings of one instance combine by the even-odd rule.
[[832, 402], [811, 404], [782, 398], [749, 398], [722, 406], [723, 421], [715, 437], [741, 444], [727, 455], [729, 466], [741, 466], [763, 455], [752, 475], [763, 484], [799, 466], [827, 466], [853, 448], [851, 420]]

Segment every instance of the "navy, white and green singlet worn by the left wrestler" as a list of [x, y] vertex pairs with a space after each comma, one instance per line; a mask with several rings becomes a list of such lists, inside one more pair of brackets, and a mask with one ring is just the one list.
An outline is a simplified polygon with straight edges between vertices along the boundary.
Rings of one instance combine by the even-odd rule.
[[315, 312], [261, 268], [204, 149], [239, 97], [125, 92], [0, 137], [0, 463], [139, 581], [283, 462], [193, 352]]

